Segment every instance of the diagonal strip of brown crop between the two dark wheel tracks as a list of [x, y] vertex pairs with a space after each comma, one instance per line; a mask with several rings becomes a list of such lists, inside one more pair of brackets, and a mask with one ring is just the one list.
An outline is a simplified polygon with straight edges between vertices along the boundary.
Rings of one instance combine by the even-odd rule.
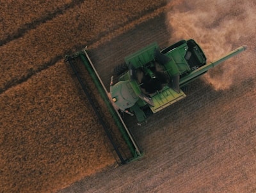
[[74, 52], [90, 45], [165, 3], [163, 0], [122, 4], [114, 0], [86, 1], [28, 30], [0, 47], [0, 92], [54, 65], [70, 50]]

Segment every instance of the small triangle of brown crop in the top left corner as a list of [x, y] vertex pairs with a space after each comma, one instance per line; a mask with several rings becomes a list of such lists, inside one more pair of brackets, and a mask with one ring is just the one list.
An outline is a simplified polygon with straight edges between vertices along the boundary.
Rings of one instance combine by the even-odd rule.
[[72, 1], [1, 1], [1, 45], [36, 25], [49, 20], [56, 14], [74, 6]]

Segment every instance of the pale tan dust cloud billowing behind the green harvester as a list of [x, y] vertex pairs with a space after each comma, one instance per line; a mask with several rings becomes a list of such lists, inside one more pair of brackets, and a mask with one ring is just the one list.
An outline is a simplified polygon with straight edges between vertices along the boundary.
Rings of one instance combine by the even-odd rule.
[[239, 46], [248, 46], [245, 52], [203, 76], [214, 89], [228, 89], [234, 81], [243, 81], [255, 74], [256, 1], [177, 0], [167, 3], [170, 4], [166, 13], [170, 44], [180, 39], [195, 39], [208, 62]]

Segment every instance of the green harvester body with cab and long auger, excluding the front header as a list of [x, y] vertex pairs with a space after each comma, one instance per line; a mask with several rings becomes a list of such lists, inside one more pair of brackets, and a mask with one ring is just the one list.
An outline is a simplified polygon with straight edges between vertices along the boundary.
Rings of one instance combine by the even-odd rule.
[[207, 64], [202, 48], [193, 39], [181, 40], [164, 50], [152, 43], [116, 66], [114, 76], [118, 81], [113, 84], [111, 77], [110, 83], [113, 105], [143, 122], [148, 115], [186, 97], [181, 89], [184, 85], [245, 48], [241, 46]]

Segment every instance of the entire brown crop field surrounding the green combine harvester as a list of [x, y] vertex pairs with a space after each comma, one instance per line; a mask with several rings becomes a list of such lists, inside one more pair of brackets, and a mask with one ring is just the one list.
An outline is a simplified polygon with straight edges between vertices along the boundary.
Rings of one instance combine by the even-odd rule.
[[[1, 1], [0, 192], [256, 192], [255, 1], [38, 2]], [[125, 55], [183, 38], [209, 61], [248, 48], [127, 122], [145, 155], [116, 168], [65, 54], [88, 45], [108, 87]]]

